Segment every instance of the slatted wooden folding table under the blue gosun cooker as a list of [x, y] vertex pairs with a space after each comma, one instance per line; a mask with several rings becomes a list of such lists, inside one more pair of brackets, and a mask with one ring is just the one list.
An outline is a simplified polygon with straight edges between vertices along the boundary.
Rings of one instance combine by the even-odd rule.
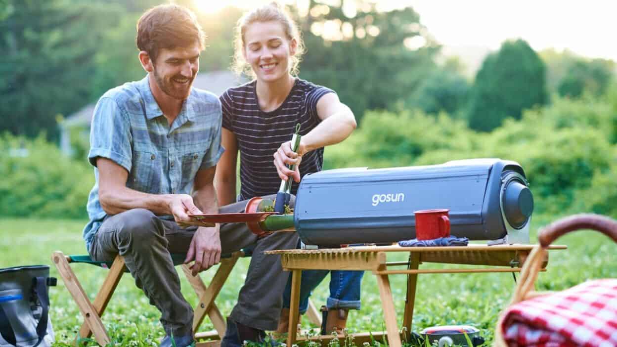
[[[291, 309], [289, 312], [289, 335], [287, 345], [296, 342], [298, 324], [298, 304], [300, 296], [300, 278], [302, 270], [370, 270], [377, 277], [379, 295], [384, 312], [386, 333], [389, 345], [400, 347], [400, 330], [397, 326], [394, 311], [394, 299], [388, 275], [407, 274], [407, 302], [403, 326], [406, 332], [411, 332], [413, 318], [413, 304], [416, 294], [416, 282], [418, 274], [453, 274], [465, 272], [520, 272], [526, 257], [531, 252], [533, 245], [477, 245], [452, 246], [452, 247], [400, 247], [393, 246], [360, 246], [339, 249], [289, 249], [280, 251], [267, 251], [267, 254], [279, 254], [283, 269], [292, 272]], [[566, 246], [550, 246], [549, 249], [565, 249]], [[390, 252], [407, 252], [410, 254], [409, 262], [387, 262], [386, 254]], [[497, 267], [482, 267], [474, 269], [418, 269], [423, 262], [436, 262], [445, 264], [468, 264], [489, 265]], [[545, 268], [548, 257], [545, 259], [542, 269]], [[389, 270], [392, 265], [408, 264], [408, 269]], [[522, 278], [521, 278], [522, 280]], [[354, 341], [362, 343], [366, 333], [354, 334]], [[375, 337], [375, 333], [373, 333]], [[321, 338], [323, 341], [327, 337]], [[320, 337], [311, 337], [318, 340]]]

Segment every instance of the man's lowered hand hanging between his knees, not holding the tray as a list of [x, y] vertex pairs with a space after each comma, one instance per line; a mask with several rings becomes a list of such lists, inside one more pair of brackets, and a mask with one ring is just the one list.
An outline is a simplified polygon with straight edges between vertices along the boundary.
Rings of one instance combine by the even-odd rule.
[[189, 251], [184, 259], [184, 264], [195, 261], [190, 267], [193, 276], [210, 269], [212, 265], [221, 261], [221, 239], [218, 228], [218, 225], [213, 228], [197, 228], [193, 235]]

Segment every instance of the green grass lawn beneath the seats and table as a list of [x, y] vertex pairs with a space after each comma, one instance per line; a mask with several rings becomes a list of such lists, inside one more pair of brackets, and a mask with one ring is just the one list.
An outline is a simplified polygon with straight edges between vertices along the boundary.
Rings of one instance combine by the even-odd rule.
[[[548, 216], [534, 216], [532, 229], [555, 220]], [[65, 254], [86, 254], [81, 239], [84, 220], [0, 220], [0, 268], [15, 265], [48, 264], [51, 275], [58, 277], [51, 264], [51, 253], [61, 250]], [[535, 240], [535, 233], [532, 235]], [[578, 232], [566, 235], [557, 242], [567, 245], [567, 251], [550, 254], [548, 271], [539, 275], [539, 290], [563, 290], [590, 278], [617, 278], [617, 245], [607, 236], [593, 232]], [[389, 261], [404, 261], [404, 254], [394, 254]], [[226, 316], [236, 302], [239, 288], [246, 278], [249, 259], [241, 259], [230, 278], [223, 286], [217, 305]], [[424, 264], [423, 268], [441, 267], [439, 264]], [[464, 266], [461, 266], [464, 267]], [[73, 267], [86, 293], [93, 299], [94, 293], [106, 275], [106, 270], [91, 265]], [[213, 270], [202, 273], [208, 283]], [[182, 291], [189, 303], [195, 304], [193, 293], [183, 275]], [[313, 293], [313, 303], [320, 306], [328, 296], [328, 280]], [[402, 319], [405, 304], [405, 276], [391, 276], [395, 307]], [[487, 345], [491, 345], [495, 322], [499, 312], [507, 304], [515, 286], [511, 274], [436, 274], [420, 275], [416, 294], [413, 331], [433, 325], [468, 324], [481, 330]], [[380, 331], [383, 329], [383, 314], [375, 277], [366, 273], [362, 283], [362, 309], [349, 315], [350, 332]], [[51, 319], [56, 332], [57, 345], [70, 345], [75, 340], [81, 325], [81, 314], [64, 287], [62, 280], [50, 289]], [[112, 340], [118, 346], [157, 346], [164, 332], [158, 322], [159, 312], [151, 306], [143, 293], [136, 288], [133, 278], [125, 275], [114, 298], [103, 316]], [[400, 322], [399, 322], [400, 323]], [[308, 319], [302, 325], [309, 328]], [[202, 330], [212, 330], [204, 321]]]

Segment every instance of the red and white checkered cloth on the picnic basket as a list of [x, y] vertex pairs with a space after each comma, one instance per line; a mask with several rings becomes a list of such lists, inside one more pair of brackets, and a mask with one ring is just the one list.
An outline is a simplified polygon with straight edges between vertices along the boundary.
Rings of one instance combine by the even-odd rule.
[[594, 280], [508, 307], [508, 346], [617, 346], [617, 280]]

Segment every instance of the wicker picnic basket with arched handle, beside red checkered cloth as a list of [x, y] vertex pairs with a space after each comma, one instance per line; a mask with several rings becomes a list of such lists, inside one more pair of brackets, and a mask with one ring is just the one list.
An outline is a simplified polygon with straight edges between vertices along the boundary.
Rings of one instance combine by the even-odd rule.
[[[560, 236], [580, 229], [601, 232], [617, 243], [617, 221], [609, 217], [597, 214], [577, 214], [553, 222], [540, 230], [538, 235], [539, 245], [536, 245], [532, 249], [528, 259], [524, 262], [523, 269], [521, 269], [521, 280], [516, 285], [509, 306], [554, 293], [550, 291], [539, 292], [534, 290], [537, 275], [542, 268], [542, 261], [546, 259], [547, 247]], [[508, 307], [500, 314], [499, 322], [495, 328], [494, 346], [508, 346], [505, 340], [505, 331], [503, 331], [503, 323], [506, 318], [507, 309]]]

